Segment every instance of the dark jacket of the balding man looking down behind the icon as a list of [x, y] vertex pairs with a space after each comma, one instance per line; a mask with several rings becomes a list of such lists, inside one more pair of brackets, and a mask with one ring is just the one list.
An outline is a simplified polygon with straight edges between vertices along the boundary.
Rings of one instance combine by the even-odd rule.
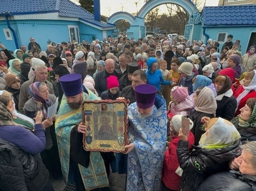
[[96, 73], [95, 76], [95, 90], [97, 91], [98, 95], [101, 95], [102, 92], [107, 90], [107, 78], [109, 76], [116, 76], [119, 80], [123, 74], [120, 70], [114, 70], [113, 73], [107, 73], [106, 70], [102, 70]]

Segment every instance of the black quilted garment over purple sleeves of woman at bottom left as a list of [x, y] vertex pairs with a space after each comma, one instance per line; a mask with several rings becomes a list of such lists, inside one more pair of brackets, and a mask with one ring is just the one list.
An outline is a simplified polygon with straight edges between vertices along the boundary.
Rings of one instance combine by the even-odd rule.
[[42, 190], [49, 172], [40, 154], [29, 154], [0, 138], [0, 190]]

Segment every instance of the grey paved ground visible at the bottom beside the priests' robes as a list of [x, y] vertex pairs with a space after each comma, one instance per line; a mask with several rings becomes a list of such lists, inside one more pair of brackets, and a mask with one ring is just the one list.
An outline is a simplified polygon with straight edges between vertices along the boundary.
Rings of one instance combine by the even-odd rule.
[[[110, 170], [111, 171], [111, 170]], [[118, 173], [110, 173], [109, 175], [109, 188], [111, 191], [125, 191], [125, 174], [118, 174]], [[55, 191], [63, 191], [66, 187], [66, 184], [63, 178], [54, 180], [50, 178], [50, 182], [53, 185]]]

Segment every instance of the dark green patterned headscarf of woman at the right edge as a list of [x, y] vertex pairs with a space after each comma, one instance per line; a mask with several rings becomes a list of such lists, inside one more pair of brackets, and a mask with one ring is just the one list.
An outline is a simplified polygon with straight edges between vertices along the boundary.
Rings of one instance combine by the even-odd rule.
[[237, 115], [230, 122], [235, 124], [238, 121], [238, 126], [240, 127], [256, 127], [256, 105], [253, 108], [252, 114], [247, 121], [240, 118], [240, 115]]

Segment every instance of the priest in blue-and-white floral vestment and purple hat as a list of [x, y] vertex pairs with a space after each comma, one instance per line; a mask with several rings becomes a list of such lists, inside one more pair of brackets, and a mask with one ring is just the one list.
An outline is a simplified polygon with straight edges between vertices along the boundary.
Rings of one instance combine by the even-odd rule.
[[136, 102], [128, 107], [127, 190], [161, 190], [167, 116], [165, 99], [156, 87], [135, 87]]

